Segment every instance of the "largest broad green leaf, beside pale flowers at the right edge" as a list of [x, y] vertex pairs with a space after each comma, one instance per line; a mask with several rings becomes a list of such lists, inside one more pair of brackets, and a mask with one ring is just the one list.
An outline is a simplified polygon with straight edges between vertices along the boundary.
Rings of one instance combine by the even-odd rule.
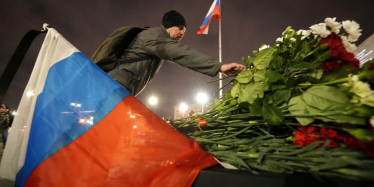
[[332, 86], [313, 86], [301, 97], [307, 105], [320, 110], [342, 109], [346, 108], [349, 103], [347, 95], [338, 88]]

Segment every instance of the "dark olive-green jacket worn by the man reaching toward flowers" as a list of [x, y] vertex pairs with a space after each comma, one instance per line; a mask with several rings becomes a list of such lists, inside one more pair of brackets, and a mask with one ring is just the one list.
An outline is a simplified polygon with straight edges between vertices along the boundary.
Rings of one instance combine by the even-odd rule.
[[139, 94], [156, 75], [164, 60], [214, 77], [221, 63], [186, 44], [173, 40], [165, 27], [141, 31], [124, 50], [108, 75], [133, 95]]

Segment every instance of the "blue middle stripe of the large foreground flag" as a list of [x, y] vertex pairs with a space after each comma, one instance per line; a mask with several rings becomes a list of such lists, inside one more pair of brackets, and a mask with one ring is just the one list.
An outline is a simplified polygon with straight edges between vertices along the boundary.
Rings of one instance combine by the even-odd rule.
[[[128, 95], [81, 52], [54, 64], [36, 101], [25, 163], [16, 176], [16, 186], [23, 187], [42, 161], [88, 131]], [[82, 118], [93, 118], [92, 125], [79, 123]]]

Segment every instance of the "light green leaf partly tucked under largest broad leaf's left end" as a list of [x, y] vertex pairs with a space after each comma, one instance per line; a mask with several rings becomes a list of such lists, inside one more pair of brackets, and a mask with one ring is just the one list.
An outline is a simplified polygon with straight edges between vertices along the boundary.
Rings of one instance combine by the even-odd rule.
[[[291, 98], [288, 102], [288, 105], [288, 110], [291, 112], [292, 115], [309, 115], [309, 112], [306, 109], [307, 104], [301, 99], [301, 96]], [[304, 117], [297, 117], [296, 120], [304, 126], [309, 125], [314, 121], [313, 118]]]

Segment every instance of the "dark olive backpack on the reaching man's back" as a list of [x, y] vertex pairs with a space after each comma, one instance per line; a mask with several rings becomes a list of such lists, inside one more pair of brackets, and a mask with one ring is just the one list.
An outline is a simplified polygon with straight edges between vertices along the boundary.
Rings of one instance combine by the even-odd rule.
[[126, 47], [139, 32], [145, 29], [147, 28], [138, 26], [117, 28], [96, 49], [91, 60], [105, 72], [113, 70]]

